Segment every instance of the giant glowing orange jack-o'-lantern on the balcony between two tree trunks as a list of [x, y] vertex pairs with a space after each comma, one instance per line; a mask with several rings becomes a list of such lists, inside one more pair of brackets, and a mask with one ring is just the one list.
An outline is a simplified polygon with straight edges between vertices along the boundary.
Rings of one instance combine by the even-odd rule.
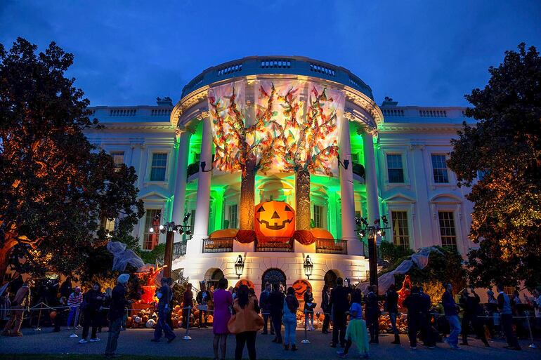
[[291, 237], [295, 232], [295, 212], [282, 201], [256, 205], [255, 231], [258, 237]]

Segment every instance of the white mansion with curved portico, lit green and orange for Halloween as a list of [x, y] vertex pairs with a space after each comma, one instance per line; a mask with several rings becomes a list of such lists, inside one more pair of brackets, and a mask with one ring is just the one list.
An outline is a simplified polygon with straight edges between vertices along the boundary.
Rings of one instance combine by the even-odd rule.
[[[133, 236], [141, 247], [165, 241], [149, 232], [157, 213], [177, 223], [191, 214], [193, 236], [176, 235], [174, 269], [195, 284], [222, 276], [258, 289], [308, 281], [318, 295], [337, 276], [363, 281], [359, 217], [386, 215], [391, 231], [382, 240], [400, 246], [462, 254], [471, 246], [468, 189], [456, 186], [445, 164], [450, 140], [471, 122], [462, 107], [398, 106], [389, 98], [377, 105], [347, 69], [274, 56], [204, 70], [175, 105], [158, 98], [154, 106], [91, 109], [105, 128], [88, 131], [89, 140], [138, 173], [146, 214]], [[245, 138], [235, 135], [238, 124]], [[281, 204], [295, 215], [280, 213]], [[274, 225], [262, 218], [265, 206], [275, 206]]]

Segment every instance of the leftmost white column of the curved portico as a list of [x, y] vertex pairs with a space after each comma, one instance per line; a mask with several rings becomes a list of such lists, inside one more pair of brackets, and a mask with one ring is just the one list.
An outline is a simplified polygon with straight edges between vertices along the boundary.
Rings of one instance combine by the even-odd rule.
[[[189, 131], [181, 133], [181, 138], [178, 143], [178, 156], [176, 158], [176, 179], [175, 192], [173, 198], [173, 215], [171, 221], [180, 224], [184, 218], [184, 204], [186, 197], [186, 173], [188, 170], [188, 152], [190, 151], [190, 136]], [[180, 241], [182, 238], [178, 233], [175, 234], [175, 241]]]

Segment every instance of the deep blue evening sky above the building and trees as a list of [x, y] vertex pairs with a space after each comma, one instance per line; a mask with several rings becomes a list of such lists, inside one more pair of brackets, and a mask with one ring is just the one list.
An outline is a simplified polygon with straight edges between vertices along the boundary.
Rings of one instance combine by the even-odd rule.
[[91, 105], [176, 102], [202, 70], [248, 55], [304, 55], [350, 69], [381, 104], [464, 106], [487, 69], [541, 48], [541, 1], [0, 0], [0, 43], [75, 55]]

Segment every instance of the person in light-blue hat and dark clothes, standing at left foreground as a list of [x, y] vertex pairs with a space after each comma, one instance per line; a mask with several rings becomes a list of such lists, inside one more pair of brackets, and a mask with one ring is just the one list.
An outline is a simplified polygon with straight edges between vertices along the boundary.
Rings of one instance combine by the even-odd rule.
[[112, 289], [109, 310], [109, 338], [107, 338], [107, 347], [105, 347], [105, 356], [107, 357], [115, 357], [120, 326], [122, 326], [122, 319], [124, 318], [124, 309], [126, 305], [131, 303], [131, 301], [126, 300], [128, 281], [129, 274], [121, 274], [118, 276], [117, 285]]

